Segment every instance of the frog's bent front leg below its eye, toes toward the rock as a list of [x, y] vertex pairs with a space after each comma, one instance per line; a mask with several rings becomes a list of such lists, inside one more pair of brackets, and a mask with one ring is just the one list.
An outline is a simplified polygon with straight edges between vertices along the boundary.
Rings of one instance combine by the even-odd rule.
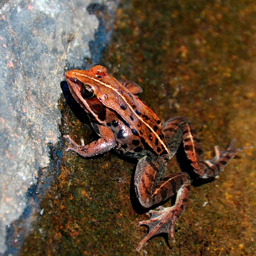
[[103, 154], [116, 146], [116, 138], [110, 128], [101, 125], [99, 126], [99, 132], [101, 138], [88, 145], [84, 145], [83, 139], [81, 139], [81, 145], [78, 145], [69, 135], [64, 135], [63, 137], [72, 144], [72, 146], [66, 148], [66, 151], [74, 151], [82, 157], [92, 157]]

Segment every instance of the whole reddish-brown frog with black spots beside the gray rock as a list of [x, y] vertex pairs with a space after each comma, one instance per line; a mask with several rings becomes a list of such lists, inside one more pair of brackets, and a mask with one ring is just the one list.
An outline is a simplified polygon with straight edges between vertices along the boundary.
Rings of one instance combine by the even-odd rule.
[[147, 225], [149, 232], [137, 250], [151, 237], [160, 233], [170, 234], [174, 240], [174, 225], [186, 207], [190, 192], [190, 176], [180, 172], [165, 176], [166, 164], [181, 143], [194, 172], [203, 179], [220, 174], [230, 160], [243, 148], [234, 148], [233, 141], [226, 151], [215, 147], [216, 156], [204, 160], [200, 139], [184, 116], [177, 116], [161, 123], [158, 116], [136, 94], [142, 88], [129, 80], [118, 81], [103, 66], [90, 70], [70, 70], [66, 73], [70, 92], [87, 113], [89, 121], [100, 138], [88, 145], [78, 145], [69, 135], [64, 138], [72, 150], [84, 158], [102, 154], [110, 149], [124, 156], [136, 158], [138, 164], [134, 187], [138, 201], [150, 208], [176, 194], [170, 207], [150, 210]]

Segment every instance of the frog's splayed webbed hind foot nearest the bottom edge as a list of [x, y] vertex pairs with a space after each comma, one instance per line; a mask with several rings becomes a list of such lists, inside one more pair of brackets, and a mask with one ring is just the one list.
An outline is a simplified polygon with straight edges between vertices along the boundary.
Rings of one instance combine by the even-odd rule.
[[149, 220], [140, 221], [138, 223], [138, 225], [148, 226], [149, 232], [136, 248], [137, 251], [139, 251], [142, 245], [147, 242], [151, 237], [161, 233], [170, 234], [172, 242], [175, 242], [174, 226], [180, 214], [182, 214], [182, 208], [180, 207], [180, 205], [174, 205], [172, 207], [166, 208], [159, 206], [157, 209], [158, 211], [150, 210], [149, 212], [147, 212], [147, 214], [151, 214]]

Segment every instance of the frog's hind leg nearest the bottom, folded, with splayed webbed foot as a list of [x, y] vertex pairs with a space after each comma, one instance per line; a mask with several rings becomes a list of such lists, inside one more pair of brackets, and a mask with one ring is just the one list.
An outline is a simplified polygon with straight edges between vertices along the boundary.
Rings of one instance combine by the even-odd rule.
[[144, 208], [170, 198], [177, 193], [176, 202], [172, 207], [158, 207], [158, 211], [150, 210], [151, 218], [139, 222], [139, 225], [147, 225], [149, 232], [140, 242], [137, 251], [151, 237], [161, 233], [170, 234], [173, 242], [174, 225], [185, 209], [190, 192], [190, 178], [186, 172], [171, 174], [162, 178], [166, 164], [163, 157], [150, 158], [145, 156], [140, 159], [134, 176], [134, 186], [137, 198]]

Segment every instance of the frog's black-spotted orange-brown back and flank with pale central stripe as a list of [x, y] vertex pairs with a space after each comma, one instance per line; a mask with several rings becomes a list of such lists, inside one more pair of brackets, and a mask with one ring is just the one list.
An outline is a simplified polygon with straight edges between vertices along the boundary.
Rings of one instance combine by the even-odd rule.
[[[117, 80], [112, 80], [109, 86], [113, 87], [109, 93], [112, 97], [111, 100], [106, 99], [104, 105], [111, 108], [116, 117], [109, 113], [106, 124], [119, 123], [119, 130], [113, 126], [112, 130], [117, 134], [118, 142], [122, 143], [126, 154], [132, 154], [133, 150], [138, 157], [148, 151], [155, 155], [168, 154], [162, 123], [153, 110]], [[124, 125], [120, 124], [120, 120]], [[124, 138], [123, 134], [127, 136]]]

